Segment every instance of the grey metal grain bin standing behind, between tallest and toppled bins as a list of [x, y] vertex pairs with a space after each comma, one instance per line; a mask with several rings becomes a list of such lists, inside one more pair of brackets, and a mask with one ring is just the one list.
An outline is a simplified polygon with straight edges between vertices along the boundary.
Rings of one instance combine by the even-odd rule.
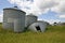
[[31, 25], [31, 24], [34, 24], [34, 23], [36, 23], [37, 22], [37, 16], [35, 16], [35, 15], [32, 15], [32, 14], [29, 14], [29, 15], [27, 15], [26, 16], [26, 26], [25, 27], [28, 27], [29, 25]]

